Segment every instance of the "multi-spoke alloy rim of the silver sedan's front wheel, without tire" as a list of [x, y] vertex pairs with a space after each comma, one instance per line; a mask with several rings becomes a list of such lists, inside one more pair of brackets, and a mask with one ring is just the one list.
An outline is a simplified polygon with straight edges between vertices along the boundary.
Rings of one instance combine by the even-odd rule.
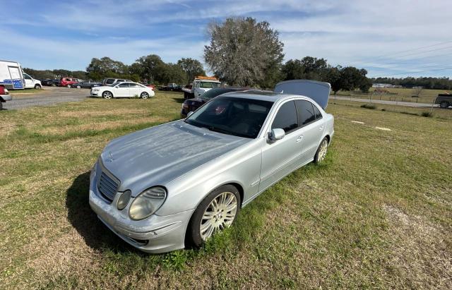
[[236, 214], [237, 198], [234, 193], [225, 192], [217, 195], [210, 202], [201, 219], [199, 231], [203, 241], [207, 241], [215, 232], [230, 226]]

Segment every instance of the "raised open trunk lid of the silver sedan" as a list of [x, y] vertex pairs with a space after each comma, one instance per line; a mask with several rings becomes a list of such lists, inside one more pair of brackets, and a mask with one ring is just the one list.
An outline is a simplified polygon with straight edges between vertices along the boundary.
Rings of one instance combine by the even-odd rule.
[[314, 99], [314, 101], [326, 109], [330, 97], [331, 85], [316, 80], [285, 80], [275, 85], [274, 92], [282, 92], [287, 95], [302, 95]]

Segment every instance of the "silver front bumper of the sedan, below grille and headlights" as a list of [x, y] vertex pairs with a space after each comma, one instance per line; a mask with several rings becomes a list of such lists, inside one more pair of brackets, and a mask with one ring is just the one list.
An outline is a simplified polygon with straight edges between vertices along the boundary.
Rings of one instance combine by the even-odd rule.
[[184, 248], [186, 227], [194, 210], [167, 216], [152, 215], [147, 219], [133, 221], [128, 214], [133, 198], [124, 210], [118, 210], [119, 196], [120, 193], [115, 194], [110, 203], [97, 190], [97, 176], [91, 176], [90, 207], [119, 238], [147, 253], [165, 253]]

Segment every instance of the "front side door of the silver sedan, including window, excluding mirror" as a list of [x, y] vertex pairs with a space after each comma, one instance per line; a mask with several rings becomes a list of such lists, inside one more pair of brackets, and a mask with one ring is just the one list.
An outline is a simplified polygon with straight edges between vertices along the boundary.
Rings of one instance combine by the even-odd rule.
[[299, 164], [302, 150], [299, 144], [297, 109], [293, 100], [278, 108], [269, 131], [275, 128], [284, 129], [286, 135], [280, 140], [271, 141], [267, 138], [263, 142], [259, 191], [289, 174]]

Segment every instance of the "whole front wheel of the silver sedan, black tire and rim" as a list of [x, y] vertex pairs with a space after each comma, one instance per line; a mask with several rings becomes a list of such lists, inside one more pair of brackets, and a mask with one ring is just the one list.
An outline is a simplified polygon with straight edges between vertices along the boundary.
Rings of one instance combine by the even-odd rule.
[[239, 214], [240, 202], [239, 191], [230, 184], [220, 186], [209, 193], [191, 216], [186, 231], [186, 246], [199, 248], [215, 232], [230, 226]]

